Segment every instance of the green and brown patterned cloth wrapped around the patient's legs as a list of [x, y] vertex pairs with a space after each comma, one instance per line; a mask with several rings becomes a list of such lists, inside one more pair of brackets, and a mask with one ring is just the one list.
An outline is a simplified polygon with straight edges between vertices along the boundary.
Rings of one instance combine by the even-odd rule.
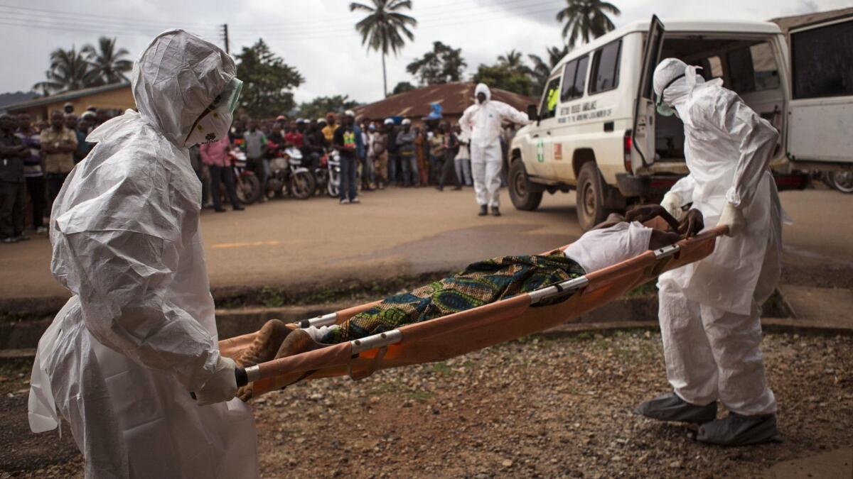
[[452, 315], [583, 274], [586, 274], [583, 268], [561, 251], [546, 256], [496, 257], [473, 263], [460, 274], [387, 297], [328, 332], [322, 343], [343, 343]]

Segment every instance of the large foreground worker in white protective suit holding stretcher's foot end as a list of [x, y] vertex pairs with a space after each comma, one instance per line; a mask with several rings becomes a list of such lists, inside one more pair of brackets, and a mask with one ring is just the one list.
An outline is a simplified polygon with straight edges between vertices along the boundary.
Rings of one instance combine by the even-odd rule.
[[219, 355], [188, 153], [228, 134], [241, 81], [222, 49], [173, 30], [131, 88], [139, 113], [90, 134], [51, 212], [50, 267], [73, 296], [38, 342], [30, 427], [55, 429], [58, 411], [87, 477], [258, 476], [252, 411]]

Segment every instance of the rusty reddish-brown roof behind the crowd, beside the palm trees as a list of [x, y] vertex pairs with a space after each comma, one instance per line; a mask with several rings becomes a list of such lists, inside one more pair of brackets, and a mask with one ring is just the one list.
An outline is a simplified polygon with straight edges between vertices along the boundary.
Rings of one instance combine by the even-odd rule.
[[[433, 84], [392, 95], [385, 100], [353, 108], [359, 118], [381, 119], [393, 116], [421, 118], [430, 113], [430, 103], [438, 102], [445, 116], [461, 116], [474, 102], [474, 87], [468, 82]], [[524, 112], [527, 105], [537, 101], [503, 89], [491, 89], [492, 100], [508, 103]]]

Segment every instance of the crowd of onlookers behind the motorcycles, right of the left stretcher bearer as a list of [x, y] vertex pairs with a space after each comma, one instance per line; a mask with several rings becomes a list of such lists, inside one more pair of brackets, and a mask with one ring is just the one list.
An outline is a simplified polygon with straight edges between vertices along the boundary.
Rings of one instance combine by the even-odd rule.
[[[205, 191], [218, 191], [219, 183], [224, 182], [238, 210], [241, 208], [232, 196], [233, 178], [222, 170], [223, 152], [234, 147], [246, 153], [262, 190], [270, 175], [270, 159], [279, 148], [298, 148], [303, 165], [312, 172], [324, 155], [337, 152], [342, 205], [359, 203], [359, 189], [434, 186], [442, 190], [447, 185], [459, 189], [473, 184], [468, 139], [458, 124], [432, 120], [413, 125], [409, 118], [356, 121], [351, 111], [310, 119], [281, 115], [257, 120], [244, 116], [235, 119], [228, 139], [191, 152], [197, 164], [206, 168], [200, 174], [204, 180], [209, 178]], [[206, 196], [205, 203], [212, 201], [217, 211], [223, 211], [216, 196]]]

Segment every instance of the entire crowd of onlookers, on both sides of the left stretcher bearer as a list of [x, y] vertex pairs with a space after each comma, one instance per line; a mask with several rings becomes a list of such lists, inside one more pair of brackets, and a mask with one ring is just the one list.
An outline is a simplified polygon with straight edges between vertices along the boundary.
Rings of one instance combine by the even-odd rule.
[[[64, 112], [52, 113], [49, 121], [34, 122], [26, 113], [0, 116], [0, 240], [29, 240], [26, 226], [37, 234], [46, 232], [45, 217], [63, 182], [93, 147], [86, 136], [112, 113], [90, 107], [78, 115], [68, 104]], [[443, 190], [449, 185], [460, 189], [473, 184], [467, 135], [448, 121], [417, 125], [396, 117], [356, 121], [351, 111], [310, 119], [241, 116], [228, 138], [190, 149], [203, 185], [203, 207], [225, 211], [219, 193], [224, 191], [235, 211], [243, 209], [231, 168], [233, 150], [246, 154], [248, 167], [265, 192], [270, 159], [280, 149], [293, 147], [312, 173], [321, 159], [337, 153], [342, 205], [359, 203], [359, 191], [426, 186]], [[260, 201], [266, 198], [260, 195]]]

